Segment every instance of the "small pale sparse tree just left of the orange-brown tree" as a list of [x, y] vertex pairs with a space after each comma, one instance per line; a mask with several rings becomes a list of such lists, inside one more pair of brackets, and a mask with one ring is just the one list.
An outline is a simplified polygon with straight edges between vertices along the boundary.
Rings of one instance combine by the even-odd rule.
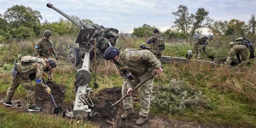
[[212, 29], [214, 35], [222, 35], [222, 34], [225, 34], [227, 30], [227, 24], [228, 24], [228, 21], [226, 20], [225, 21], [218, 20], [218, 21], [215, 21], [210, 28]]

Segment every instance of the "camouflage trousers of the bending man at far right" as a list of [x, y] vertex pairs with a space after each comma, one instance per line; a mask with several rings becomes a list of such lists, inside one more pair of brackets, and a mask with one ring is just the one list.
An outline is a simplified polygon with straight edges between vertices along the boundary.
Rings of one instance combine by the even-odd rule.
[[237, 53], [241, 55], [242, 60], [246, 61], [247, 47], [245, 45], [237, 44], [231, 48], [231, 51], [229, 53], [227, 60], [225, 61], [225, 64], [230, 65], [233, 57], [236, 56]]

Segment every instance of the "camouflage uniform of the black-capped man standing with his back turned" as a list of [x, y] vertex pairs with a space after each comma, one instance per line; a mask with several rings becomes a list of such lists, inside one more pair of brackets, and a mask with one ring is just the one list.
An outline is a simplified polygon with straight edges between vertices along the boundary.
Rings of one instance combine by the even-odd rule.
[[150, 44], [150, 51], [156, 56], [158, 60], [161, 58], [162, 51], [159, 51], [159, 47], [155, 46], [154, 44], [157, 43], [157, 39], [160, 37], [162, 37], [160, 33], [154, 33], [154, 35], [147, 40], [147, 44]]

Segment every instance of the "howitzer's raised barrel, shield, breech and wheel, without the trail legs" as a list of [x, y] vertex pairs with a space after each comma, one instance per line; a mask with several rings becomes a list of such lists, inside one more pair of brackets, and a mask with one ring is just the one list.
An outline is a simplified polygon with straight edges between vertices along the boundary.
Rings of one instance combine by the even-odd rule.
[[118, 38], [118, 30], [114, 28], [105, 28], [102, 25], [92, 24], [87, 21], [78, 21], [66, 13], [55, 8], [53, 4], [47, 3], [46, 6], [66, 17], [73, 24], [81, 28], [75, 43], [79, 43], [79, 48], [72, 47], [68, 53], [70, 65], [77, 67], [83, 59], [85, 52], [90, 52], [90, 58], [93, 58], [94, 39], [97, 42], [97, 54], [102, 56], [109, 46], [115, 46]]

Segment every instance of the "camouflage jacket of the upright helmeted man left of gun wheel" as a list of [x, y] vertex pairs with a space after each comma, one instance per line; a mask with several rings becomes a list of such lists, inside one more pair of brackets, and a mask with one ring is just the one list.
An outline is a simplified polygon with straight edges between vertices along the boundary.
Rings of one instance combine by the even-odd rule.
[[52, 58], [52, 53], [56, 56], [52, 41], [46, 40], [44, 38], [37, 41], [37, 44], [35, 44], [34, 52], [36, 56]]

